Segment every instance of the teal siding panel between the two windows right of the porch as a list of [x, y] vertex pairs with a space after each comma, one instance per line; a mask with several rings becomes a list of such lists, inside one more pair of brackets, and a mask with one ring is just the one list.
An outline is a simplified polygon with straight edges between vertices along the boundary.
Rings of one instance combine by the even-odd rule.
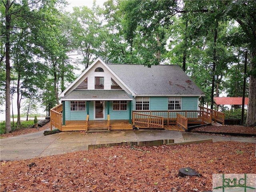
[[149, 104], [151, 111], [166, 111], [168, 110], [168, 97], [150, 97]]

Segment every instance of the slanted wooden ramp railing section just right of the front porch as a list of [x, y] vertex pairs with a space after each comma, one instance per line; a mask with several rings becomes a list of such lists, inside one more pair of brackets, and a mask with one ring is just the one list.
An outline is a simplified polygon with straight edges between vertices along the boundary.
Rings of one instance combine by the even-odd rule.
[[164, 117], [149, 115], [149, 114], [141, 114], [137, 112], [133, 112], [132, 114], [133, 124], [138, 124], [141, 126], [145, 126], [147, 128], [150, 127], [160, 127], [164, 128]]

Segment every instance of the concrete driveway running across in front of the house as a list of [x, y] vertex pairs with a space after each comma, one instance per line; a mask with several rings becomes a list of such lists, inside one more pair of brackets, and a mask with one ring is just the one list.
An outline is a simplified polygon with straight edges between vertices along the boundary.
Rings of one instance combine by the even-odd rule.
[[0, 139], [0, 160], [22, 160], [88, 150], [90, 144], [174, 139], [175, 143], [204, 139], [256, 143], [253, 137], [216, 136], [168, 130], [125, 130], [82, 134], [60, 132], [44, 136], [44, 131]]

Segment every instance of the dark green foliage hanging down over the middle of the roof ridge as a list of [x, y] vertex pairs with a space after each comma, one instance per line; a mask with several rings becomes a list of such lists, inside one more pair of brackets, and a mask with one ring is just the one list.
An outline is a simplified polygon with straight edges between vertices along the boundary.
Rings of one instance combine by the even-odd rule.
[[170, 17], [176, 14], [176, 6], [176, 1], [172, 0], [121, 1], [120, 8], [124, 12], [122, 24], [125, 38], [130, 44], [130, 53], [137, 41], [138, 53], [144, 64], [160, 64], [163, 60], [161, 55], [166, 52], [168, 38], [165, 30], [172, 24]]

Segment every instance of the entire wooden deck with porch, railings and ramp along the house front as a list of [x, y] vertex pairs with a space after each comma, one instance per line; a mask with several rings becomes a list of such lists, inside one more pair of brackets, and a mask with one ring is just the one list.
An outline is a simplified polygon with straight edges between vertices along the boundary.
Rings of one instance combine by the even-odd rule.
[[[133, 126], [143, 129], [158, 128], [165, 130], [188, 130], [188, 124], [208, 124], [212, 120], [224, 124], [224, 113], [200, 107], [196, 111], [133, 111], [132, 124], [128, 120], [111, 120], [108, 114], [107, 120], [69, 120], [63, 125], [62, 104], [51, 109], [52, 126], [61, 131], [110, 131], [132, 130]], [[177, 126], [179, 125], [179, 126]]]

